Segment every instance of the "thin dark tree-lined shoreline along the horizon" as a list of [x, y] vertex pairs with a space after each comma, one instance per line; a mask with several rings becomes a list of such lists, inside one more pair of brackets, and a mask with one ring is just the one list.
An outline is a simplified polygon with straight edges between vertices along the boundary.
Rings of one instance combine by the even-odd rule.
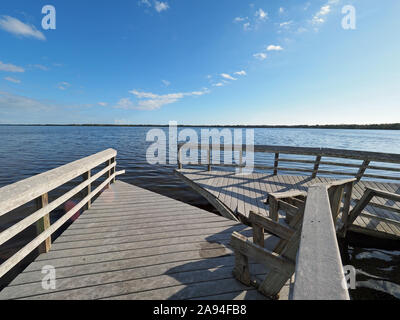
[[[0, 124], [13, 127], [168, 127], [168, 124]], [[327, 124], [327, 125], [189, 125], [178, 127], [192, 128], [270, 128], [270, 129], [374, 129], [400, 130], [400, 123], [384, 124]]]

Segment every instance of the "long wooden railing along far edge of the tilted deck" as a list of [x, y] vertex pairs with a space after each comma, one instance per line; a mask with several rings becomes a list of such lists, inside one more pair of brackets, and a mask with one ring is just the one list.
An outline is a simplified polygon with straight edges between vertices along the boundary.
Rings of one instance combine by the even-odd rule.
[[[223, 164], [213, 163], [212, 151], [219, 151], [223, 148], [223, 145], [207, 145], [207, 144], [189, 144], [181, 143], [178, 145], [178, 167], [183, 167], [182, 163], [182, 152], [188, 149], [208, 150], [207, 151], [207, 163], [208, 170], [212, 167], [245, 167], [243, 163], [243, 152], [246, 151], [246, 145], [231, 145], [229, 151], [239, 152], [239, 163], [236, 164]], [[372, 165], [371, 162], [383, 162], [400, 164], [400, 154], [392, 153], [379, 153], [379, 152], [368, 152], [368, 151], [355, 151], [355, 150], [342, 150], [342, 149], [330, 149], [330, 148], [305, 148], [305, 147], [288, 147], [288, 146], [268, 146], [268, 145], [254, 145], [252, 146], [255, 153], [272, 153], [274, 155], [273, 165], [252, 166], [255, 169], [271, 170], [274, 175], [277, 175], [279, 171], [294, 171], [294, 172], [305, 172], [309, 173], [312, 178], [317, 177], [318, 174], [327, 175], [344, 175], [354, 176], [357, 180], [361, 178], [375, 178], [375, 179], [388, 179], [388, 180], [400, 180], [400, 176], [393, 176], [388, 174], [366, 174], [367, 169], [376, 170], [378, 172], [400, 172], [400, 167], [383, 166], [383, 165]], [[288, 157], [282, 157], [282, 155], [299, 155], [299, 156], [314, 156], [314, 159], [292, 159]], [[323, 158], [338, 158], [347, 160], [358, 160], [359, 163], [354, 162], [336, 162], [331, 160], [324, 160]], [[282, 163], [292, 164], [308, 164], [309, 168], [296, 168], [288, 166], [280, 166]], [[204, 165], [197, 163], [190, 163], [190, 165]], [[343, 171], [332, 171], [322, 170], [321, 165], [335, 166], [341, 168], [353, 168], [355, 172], [343, 172]]]

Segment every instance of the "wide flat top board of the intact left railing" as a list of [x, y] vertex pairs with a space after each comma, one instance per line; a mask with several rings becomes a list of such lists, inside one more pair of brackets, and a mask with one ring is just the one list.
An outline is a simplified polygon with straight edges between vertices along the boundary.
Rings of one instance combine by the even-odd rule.
[[0, 188], [0, 216], [97, 167], [117, 152], [113, 149], [96, 153], [53, 170]]

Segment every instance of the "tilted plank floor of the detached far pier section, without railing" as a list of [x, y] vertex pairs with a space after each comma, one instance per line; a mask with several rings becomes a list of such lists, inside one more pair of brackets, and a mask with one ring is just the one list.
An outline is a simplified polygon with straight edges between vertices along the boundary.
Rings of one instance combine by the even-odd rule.
[[[268, 215], [265, 203], [268, 193], [288, 190], [303, 190], [315, 183], [330, 182], [335, 179], [296, 175], [272, 175], [267, 173], [235, 174], [228, 171], [206, 171], [204, 169], [177, 169], [176, 174], [226, 217], [246, 220], [250, 211]], [[400, 193], [400, 184], [359, 181], [355, 183], [351, 208], [362, 197], [366, 187]], [[392, 211], [384, 209], [390, 207]], [[400, 203], [374, 198], [363, 213], [376, 218], [359, 216], [350, 230], [382, 238], [400, 238]], [[390, 219], [391, 223], [380, 220]]]

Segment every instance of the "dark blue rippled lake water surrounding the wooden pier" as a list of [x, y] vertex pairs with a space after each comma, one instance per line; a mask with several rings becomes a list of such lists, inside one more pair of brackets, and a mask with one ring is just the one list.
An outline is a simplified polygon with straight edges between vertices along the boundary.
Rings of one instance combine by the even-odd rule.
[[[0, 126], [0, 187], [107, 148], [118, 151], [119, 179], [216, 212], [173, 175], [176, 165], [149, 165], [147, 127]], [[161, 128], [168, 136], [168, 128]], [[179, 129], [181, 130], [181, 129]], [[200, 128], [195, 128], [200, 136]], [[400, 131], [336, 129], [254, 129], [254, 143], [400, 153]], [[265, 161], [257, 158], [256, 163]], [[15, 221], [12, 221], [13, 223]], [[0, 220], [2, 229], [10, 221]], [[355, 299], [400, 298], [400, 248], [353, 243], [343, 260], [357, 268]], [[5, 255], [3, 255], [5, 256]], [[3, 259], [4, 260], [4, 259]]]

